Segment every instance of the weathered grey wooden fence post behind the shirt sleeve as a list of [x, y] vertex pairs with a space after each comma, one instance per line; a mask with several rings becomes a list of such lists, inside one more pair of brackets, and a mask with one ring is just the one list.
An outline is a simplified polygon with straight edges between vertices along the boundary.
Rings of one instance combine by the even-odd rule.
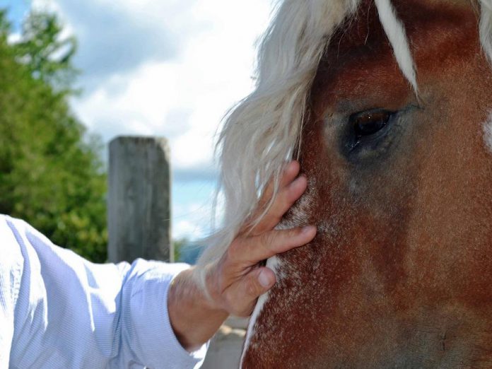
[[107, 204], [110, 262], [171, 261], [168, 141], [117, 137], [110, 142]]

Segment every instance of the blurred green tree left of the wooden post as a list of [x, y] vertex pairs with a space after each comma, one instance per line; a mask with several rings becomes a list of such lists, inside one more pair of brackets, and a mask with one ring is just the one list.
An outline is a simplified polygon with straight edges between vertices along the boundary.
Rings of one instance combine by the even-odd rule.
[[23, 218], [58, 245], [106, 260], [102, 145], [69, 108], [74, 38], [53, 14], [32, 13], [10, 44], [0, 11], [0, 213]]

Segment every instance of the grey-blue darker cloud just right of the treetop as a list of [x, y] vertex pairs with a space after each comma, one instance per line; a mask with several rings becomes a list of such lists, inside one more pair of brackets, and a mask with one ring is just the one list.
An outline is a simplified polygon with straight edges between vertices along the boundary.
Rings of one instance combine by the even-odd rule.
[[34, 0], [35, 8], [60, 14], [77, 36], [76, 63], [85, 71], [85, 85], [93, 88], [114, 73], [131, 71], [150, 60], [172, 59], [176, 37], [164, 22], [142, 19], [124, 1]]

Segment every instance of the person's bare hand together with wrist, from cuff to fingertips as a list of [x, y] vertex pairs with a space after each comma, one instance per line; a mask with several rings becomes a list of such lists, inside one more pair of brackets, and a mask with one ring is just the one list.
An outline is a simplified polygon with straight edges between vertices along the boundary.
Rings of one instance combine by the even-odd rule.
[[[168, 293], [168, 314], [178, 341], [194, 351], [208, 341], [228, 315], [252, 313], [259, 295], [276, 282], [274, 271], [259, 263], [281, 252], [305, 245], [316, 235], [315, 227], [275, 230], [282, 216], [305, 192], [307, 180], [297, 177], [299, 163], [286, 166], [279, 192], [262, 221], [254, 228], [243, 229], [223, 257], [206, 266], [209, 298], [197, 285], [194, 269], [182, 271], [173, 280]], [[274, 191], [266, 188], [258, 211], [268, 204]]]

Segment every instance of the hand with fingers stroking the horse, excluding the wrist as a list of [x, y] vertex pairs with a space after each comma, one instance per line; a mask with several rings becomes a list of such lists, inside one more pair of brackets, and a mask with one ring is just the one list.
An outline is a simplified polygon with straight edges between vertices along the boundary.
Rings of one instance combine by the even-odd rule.
[[[303, 176], [297, 177], [299, 170], [297, 161], [286, 166], [274, 204], [262, 221], [249, 232], [243, 229], [223, 257], [208, 267], [206, 286], [214, 308], [230, 315], [249, 316], [259, 295], [269, 291], [276, 282], [274, 271], [259, 263], [315, 238], [314, 226], [274, 229], [283, 214], [305, 192], [307, 180]], [[273, 184], [270, 184], [260, 201], [259, 211], [272, 194]]]

